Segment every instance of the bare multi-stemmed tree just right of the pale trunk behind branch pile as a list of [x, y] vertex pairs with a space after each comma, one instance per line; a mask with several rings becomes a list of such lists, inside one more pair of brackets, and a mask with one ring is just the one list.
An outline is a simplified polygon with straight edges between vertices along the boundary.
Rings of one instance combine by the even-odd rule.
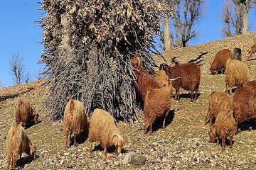
[[171, 13], [175, 30], [174, 46], [186, 47], [189, 40], [198, 36], [198, 31], [193, 30], [193, 27], [203, 16], [203, 8], [205, 8], [203, 0], [174, 1], [174, 12]]

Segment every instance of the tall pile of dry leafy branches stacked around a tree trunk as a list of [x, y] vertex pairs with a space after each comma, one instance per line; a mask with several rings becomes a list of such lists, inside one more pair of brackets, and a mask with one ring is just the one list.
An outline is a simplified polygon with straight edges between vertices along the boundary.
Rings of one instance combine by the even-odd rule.
[[46, 106], [51, 118], [62, 118], [69, 98], [110, 111], [117, 119], [134, 120], [135, 52], [152, 70], [153, 36], [159, 33], [161, 4], [153, 0], [44, 0], [44, 74], [49, 79]]

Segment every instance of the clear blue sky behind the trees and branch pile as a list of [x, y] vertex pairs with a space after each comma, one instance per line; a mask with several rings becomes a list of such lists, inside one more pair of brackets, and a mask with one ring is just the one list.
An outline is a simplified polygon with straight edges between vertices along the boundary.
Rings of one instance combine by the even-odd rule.
[[[38, 0], [40, 1], [40, 0]], [[32, 0], [2, 1], [0, 4], [0, 82], [1, 86], [13, 86], [13, 77], [9, 74], [9, 58], [13, 52], [18, 52], [23, 57], [26, 70], [30, 72], [31, 79], [43, 69], [43, 65], [37, 64], [41, 59], [39, 44], [42, 40], [42, 30], [35, 23], [43, 16], [43, 11], [38, 11], [40, 4]], [[220, 15], [223, 0], [206, 0], [206, 13], [196, 25], [201, 35], [190, 45], [198, 45], [204, 42], [223, 39], [221, 35]], [[249, 13], [249, 26], [256, 30], [255, 11]]]

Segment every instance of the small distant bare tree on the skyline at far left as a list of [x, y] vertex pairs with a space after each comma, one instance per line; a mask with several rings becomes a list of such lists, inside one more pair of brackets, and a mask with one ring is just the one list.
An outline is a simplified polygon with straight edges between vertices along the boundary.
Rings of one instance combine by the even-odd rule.
[[18, 52], [13, 52], [11, 54], [11, 59], [9, 60], [9, 69], [9, 73], [14, 76], [14, 84], [21, 84], [24, 65], [23, 59], [22, 57], [19, 57]]

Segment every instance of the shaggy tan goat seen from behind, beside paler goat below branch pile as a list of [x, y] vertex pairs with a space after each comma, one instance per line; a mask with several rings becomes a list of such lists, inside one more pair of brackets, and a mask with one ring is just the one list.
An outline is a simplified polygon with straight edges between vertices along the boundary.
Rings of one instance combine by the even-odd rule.
[[68, 134], [74, 133], [74, 147], [76, 147], [75, 137], [83, 130], [87, 134], [89, 128], [89, 118], [85, 115], [85, 107], [80, 101], [70, 99], [64, 111], [64, 132], [65, 145], [68, 147]]

